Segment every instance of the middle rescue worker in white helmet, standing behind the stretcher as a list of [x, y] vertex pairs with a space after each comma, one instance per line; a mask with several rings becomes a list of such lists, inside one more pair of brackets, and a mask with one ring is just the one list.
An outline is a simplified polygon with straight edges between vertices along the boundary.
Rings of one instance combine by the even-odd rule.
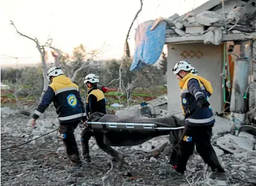
[[[88, 97], [86, 99], [86, 116], [89, 118], [91, 114], [99, 112], [106, 114], [106, 103], [105, 97], [101, 90], [98, 89], [97, 83], [99, 83], [99, 76], [94, 74], [89, 74], [84, 78], [84, 83], [88, 88]], [[86, 124], [85, 124], [86, 126]], [[81, 132], [81, 144], [82, 144], [82, 155], [86, 162], [91, 162], [91, 157], [89, 156], [89, 139], [91, 136], [95, 137], [95, 140], [98, 146], [107, 154], [110, 154], [114, 159], [116, 159], [118, 168], [124, 164], [123, 159], [124, 157], [122, 154], [104, 144], [103, 137], [104, 134], [102, 132], [92, 132], [89, 127], [86, 128]]]

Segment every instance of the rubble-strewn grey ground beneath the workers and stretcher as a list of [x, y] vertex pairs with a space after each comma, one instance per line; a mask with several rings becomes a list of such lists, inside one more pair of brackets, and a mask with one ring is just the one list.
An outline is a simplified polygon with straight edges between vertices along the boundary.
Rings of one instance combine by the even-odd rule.
[[[6, 114], [6, 113], [5, 113]], [[39, 120], [33, 129], [30, 117], [16, 114], [1, 120], [1, 148], [27, 142], [36, 136], [57, 129], [54, 112], [49, 111], [46, 120]], [[176, 114], [182, 117], [181, 114]], [[212, 144], [219, 161], [227, 173], [228, 185], [253, 185], [256, 171], [255, 136], [240, 132], [230, 134], [233, 123], [216, 117]], [[78, 148], [81, 128], [75, 129]], [[69, 161], [66, 149], [53, 132], [32, 143], [9, 150], [1, 150], [1, 185], [217, 185], [209, 178], [211, 171], [197, 154], [190, 157], [185, 177], [171, 176], [161, 167], [170, 157], [171, 144], [168, 136], [159, 136], [139, 146], [114, 147], [125, 155], [124, 168], [119, 171], [116, 162], [99, 149], [95, 139], [89, 140], [92, 163], [76, 172], [67, 172]], [[153, 153], [158, 150], [158, 153]], [[111, 165], [111, 163], [113, 165]], [[113, 166], [109, 176], [106, 173]]]

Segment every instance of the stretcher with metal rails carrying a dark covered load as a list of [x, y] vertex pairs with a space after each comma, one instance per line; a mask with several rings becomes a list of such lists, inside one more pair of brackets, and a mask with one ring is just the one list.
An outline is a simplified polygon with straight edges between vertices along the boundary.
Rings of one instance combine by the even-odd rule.
[[157, 136], [169, 135], [176, 143], [182, 133], [184, 122], [174, 116], [163, 118], [122, 117], [93, 113], [86, 122], [93, 133], [104, 136], [109, 146], [136, 146]]

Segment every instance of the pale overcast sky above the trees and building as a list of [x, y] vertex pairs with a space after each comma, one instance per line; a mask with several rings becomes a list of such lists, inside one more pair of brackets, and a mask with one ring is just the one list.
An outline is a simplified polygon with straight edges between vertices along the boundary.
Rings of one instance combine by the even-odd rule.
[[[144, 0], [143, 9], [130, 32], [129, 44], [134, 52], [135, 28], [146, 20], [170, 17], [196, 8], [207, 0]], [[19, 64], [40, 61], [35, 43], [18, 36], [17, 29], [31, 38], [37, 36], [45, 43], [50, 34], [52, 46], [67, 53], [82, 43], [89, 49], [99, 49], [106, 43], [101, 59], [121, 58], [125, 35], [140, 7], [139, 0], [2, 0], [0, 1], [1, 45], [0, 54], [19, 59]], [[15, 64], [15, 59], [0, 59], [1, 64]], [[49, 61], [53, 61], [49, 56]]]

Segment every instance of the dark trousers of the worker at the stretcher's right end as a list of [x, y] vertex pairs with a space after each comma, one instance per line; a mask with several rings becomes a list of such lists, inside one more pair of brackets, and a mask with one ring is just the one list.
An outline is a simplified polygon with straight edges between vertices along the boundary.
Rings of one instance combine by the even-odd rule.
[[176, 170], [185, 172], [190, 155], [196, 151], [212, 170], [221, 168], [214, 148], [211, 145], [212, 126], [185, 126], [179, 141], [179, 150], [175, 161]]

